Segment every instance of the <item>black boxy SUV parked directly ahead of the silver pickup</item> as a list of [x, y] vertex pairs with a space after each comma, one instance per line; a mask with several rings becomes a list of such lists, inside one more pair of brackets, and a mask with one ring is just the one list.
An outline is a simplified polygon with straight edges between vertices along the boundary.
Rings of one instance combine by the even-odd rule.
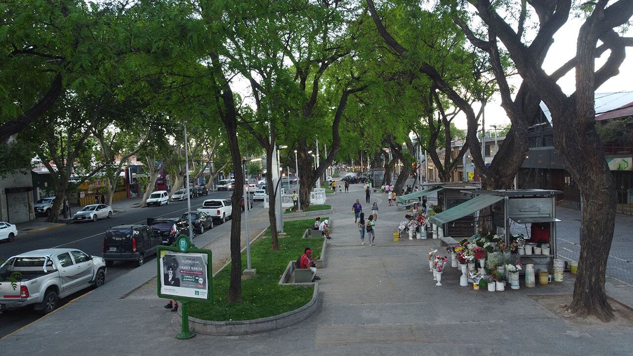
[[111, 227], [103, 238], [103, 259], [111, 266], [115, 261], [135, 261], [142, 265], [146, 257], [156, 253], [161, 239], [147, 225]]

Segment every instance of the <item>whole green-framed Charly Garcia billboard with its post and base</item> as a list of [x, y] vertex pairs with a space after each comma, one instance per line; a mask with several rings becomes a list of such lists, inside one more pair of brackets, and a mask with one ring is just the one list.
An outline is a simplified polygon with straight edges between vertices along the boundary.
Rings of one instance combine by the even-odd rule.
[[213, 300], [213, 264], [211, 250], [196, 248], [186, 235], [172, 246], [158, 246], [156, 251], [158, 297], [177, 300], [182, 305], [180, 340], [196, 336], [189, 330], [189, 302]]

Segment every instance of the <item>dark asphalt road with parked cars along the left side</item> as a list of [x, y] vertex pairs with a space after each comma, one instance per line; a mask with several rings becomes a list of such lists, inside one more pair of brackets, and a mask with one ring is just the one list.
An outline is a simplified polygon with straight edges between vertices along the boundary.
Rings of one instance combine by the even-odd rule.
[[[206, 199], [230, 198], [230, 194], [232, 194], [231, 191], [216, 191], [210, 192], [207, 196], [193, 198], [191, 200], [191, 209], [196, 210], [201, 207], [203, 201]], [[255, 201], [253, 206], [259, 205], [260, 203], [260, 201]], [[89, 255], [101, 256], [103, 250], [103, 236], [106, 229], [123, 224], [145, 223], [148, 217], [180, 217], [185, 212], [187, 212], [186, 200], [170, 201], [169, 205], [163, 205], [162, 207], [132, 208], [125, 212], [115, 213], [112, 219], [101, 219], [97, 220], [97, 222], [73, 223], [56, 229], [30, 234], [19, 234], [13, 242], [0, 244], [0, 260], [6, 260], [11, 256], [41, 248], [77, 248]], [[210, 234], [212, 238], [217, 238], [229, 230], [230, 224], [223, 224], [223, 226], [216, 224], [214, 229], [205, 231], [204, 235]], [[106, 283], [108, 283], [108, 280], [115, 279], [129, 270], [134, 269], [134, 267], [134, 262], [115, 262], [113, 267], [108, 267]], [[84, 289], [84, 291], [68, 296], [60, 300], [60, 305], [90, 290], [91, 288], [87, 288]], [[0, 314], [0, 338], [39, 319], [39, 317], [41, 317], [40, 314], [37, 314], [32, 308], [28, 307], [10, 310]]]

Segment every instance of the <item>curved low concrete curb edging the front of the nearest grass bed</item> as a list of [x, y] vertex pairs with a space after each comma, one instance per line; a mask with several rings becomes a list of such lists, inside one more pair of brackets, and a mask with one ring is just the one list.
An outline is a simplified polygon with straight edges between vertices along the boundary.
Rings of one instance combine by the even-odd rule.
[[[261, 319], [252, 319], [244, 321], [208, 321], [189, 317], [189, 327], [199, 334], [216, 335], [216, 336], [235, 336], [265, 333], [277, 329], [283, 329], [298, 322], [308, 319], [315, 314], [318, 308], [319, 294], [318, 283], [314, 285], [312, 299], [303, 307], [285, 312], [284, 314], [274, 315]], [[182, 321], [182, 312], [178, 310], [180, 318], [178, 323]]]

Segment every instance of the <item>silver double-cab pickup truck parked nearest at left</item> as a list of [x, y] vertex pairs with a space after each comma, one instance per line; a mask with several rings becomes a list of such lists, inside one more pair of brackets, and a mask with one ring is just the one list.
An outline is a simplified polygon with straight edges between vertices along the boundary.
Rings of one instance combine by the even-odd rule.
[[[5, 283], [15, 277], [17, 286]], [[31, 305], [52, 312], [60, 298], [106, 281], [106, 262], [74, 248], [49, 248], [13, 256], [0, 265], [0, 310]]]

